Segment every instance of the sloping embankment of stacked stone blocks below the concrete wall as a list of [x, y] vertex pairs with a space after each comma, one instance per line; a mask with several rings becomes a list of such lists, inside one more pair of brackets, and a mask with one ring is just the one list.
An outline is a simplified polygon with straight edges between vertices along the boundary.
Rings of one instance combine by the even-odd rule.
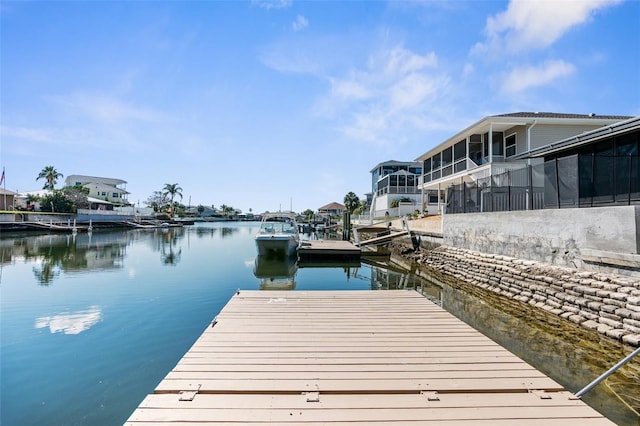
[[453, 247], [405, 250], [418, 264], [640, 346], [640, 280]]

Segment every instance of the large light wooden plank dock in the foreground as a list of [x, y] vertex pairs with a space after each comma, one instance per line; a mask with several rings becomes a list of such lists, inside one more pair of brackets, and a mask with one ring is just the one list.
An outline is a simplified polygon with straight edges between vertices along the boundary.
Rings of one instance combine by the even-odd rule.
[[611, 425], [418, 293], [240, 291], [126, 425]]

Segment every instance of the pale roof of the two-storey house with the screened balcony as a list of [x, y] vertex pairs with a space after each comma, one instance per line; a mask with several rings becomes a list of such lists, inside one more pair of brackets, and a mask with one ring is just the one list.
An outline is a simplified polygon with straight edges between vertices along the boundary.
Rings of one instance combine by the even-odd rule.
[[468, 135], [486, 133], [489, 131], [489, 128], [495, 132], [501, 132], [514, 126], [533, 125], [534, 123], [607, 126], [630, 118], [633, 117], [628, 115], [565, 114], [555, 112], [513, 112], [508, 114], [490, 115], [456, 133], [449, 139], [435, 145], [432, 149], [416, 158], [416, 161], [424, 161], [443, 149], [460, 142]]

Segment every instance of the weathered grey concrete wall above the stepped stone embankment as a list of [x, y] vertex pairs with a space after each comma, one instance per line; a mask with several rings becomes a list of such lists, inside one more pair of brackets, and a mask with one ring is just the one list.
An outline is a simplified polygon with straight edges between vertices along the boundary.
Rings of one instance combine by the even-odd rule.
[[584, 268], [583, 251], [640, 260], [640, 206], [451, 214], [443, 245]]

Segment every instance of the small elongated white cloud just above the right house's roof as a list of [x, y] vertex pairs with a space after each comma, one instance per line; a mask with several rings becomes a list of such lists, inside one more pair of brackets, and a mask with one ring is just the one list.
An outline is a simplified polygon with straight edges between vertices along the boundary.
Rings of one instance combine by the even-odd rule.
[[502, 90], [507, 93], [521, 92], [530, 87], [547, 85], [575, 72], [575, 66], [565, 61], [547, 61], [541, 66], [514, 68], [507, 75]]

